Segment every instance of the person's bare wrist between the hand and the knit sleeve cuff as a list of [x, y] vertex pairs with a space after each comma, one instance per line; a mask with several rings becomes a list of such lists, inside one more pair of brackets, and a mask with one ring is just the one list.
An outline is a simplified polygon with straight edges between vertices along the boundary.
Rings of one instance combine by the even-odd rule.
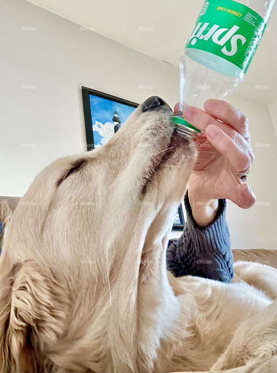
[[190, 201], [193, 219], [199, 226], [205, 227], [213, 222], [219, 207], [217, 199], [208, 199], [197, 195], [188, 187], [188, 200]]

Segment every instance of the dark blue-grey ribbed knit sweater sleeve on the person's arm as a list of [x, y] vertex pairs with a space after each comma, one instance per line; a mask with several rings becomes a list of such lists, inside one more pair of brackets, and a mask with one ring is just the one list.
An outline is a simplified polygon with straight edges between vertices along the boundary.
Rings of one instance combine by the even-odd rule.
[[184, 201], [187, 222], [181, 237], [168, 242], [167, 267], [176, 277], [192, 275], [230, 282], [233, 254], [225, 219], [226, 200], [219, 200], [216, 218], [204, 228], [193, 219], [187, 193]]

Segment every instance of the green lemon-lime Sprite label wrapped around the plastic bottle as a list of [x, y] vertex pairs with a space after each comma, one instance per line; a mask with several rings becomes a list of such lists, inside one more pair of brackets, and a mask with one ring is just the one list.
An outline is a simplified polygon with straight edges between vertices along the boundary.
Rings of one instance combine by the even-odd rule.
[[216, 63], [190, 48], [222, 57], [246, 72], [265, 27], [264, 19], [246, 5], [232, 0], [210, 0], [201, 9], [185, 52], [214, 70], [219, 70]]

